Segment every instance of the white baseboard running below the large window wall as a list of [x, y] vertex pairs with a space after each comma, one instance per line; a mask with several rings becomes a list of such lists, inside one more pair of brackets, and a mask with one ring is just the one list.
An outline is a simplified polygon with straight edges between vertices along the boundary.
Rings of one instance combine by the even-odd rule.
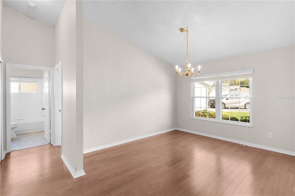
[[198, 135], [202, 135], [202, 136], [212, 137], [212, 138], [215, 138], [215, 139], [221, 139], [221, 140], [224, 140], [224, 141], [234, 142], [234, 143], [237, 143], [237, 144], [253, 146], [255, 148], [261, 148], [261, 149], [265, 149], [265, 150], [270, 150], [270, 151], [274, 151], [274, 152], [279, 152], [279, 153], [289, 154], [289, 155], [295, 156], [295, 152], [288, 151], [288, 150], [273, 148], [273, 147], [269, 147], [269, 146], [263, 146], [263, 145], [260, 145], [260, 144], [253, 144], [253, 143], [244, 142], [244, 141], [235, 140], [235, 139], [229, 139], [229, 138], [226, 138], [226, 137], [220, 137], [220, 136], [214, 136], [214, 135], [210, 135], [210, 134], [204, 134], [204, 133], [201, 133], [201, 132], [191, 131], [191, 130], [187, 130], [187, 129], [181, 129], [181, 128], [175, 128], [175, 129], [177, 129], [179, 131], [185, 131], [185, 132], [188, 132], [188, 133], [192, 133], [192, 134], [198, 134]]

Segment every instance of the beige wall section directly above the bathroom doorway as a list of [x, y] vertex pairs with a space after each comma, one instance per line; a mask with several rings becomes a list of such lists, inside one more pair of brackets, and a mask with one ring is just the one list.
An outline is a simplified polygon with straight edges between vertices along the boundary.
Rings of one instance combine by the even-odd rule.
[[54, 67], [54, 29], [4, 6], [5, 62]]

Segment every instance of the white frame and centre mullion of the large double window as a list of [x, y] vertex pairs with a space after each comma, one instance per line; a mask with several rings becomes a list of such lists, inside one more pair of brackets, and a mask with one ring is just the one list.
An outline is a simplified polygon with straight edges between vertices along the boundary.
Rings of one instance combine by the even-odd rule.
[[[253, 71], [252, 71], [253, 72]], [[222, 73], [220, 73], [221, 75]], [[219, 75], [219, 76], [220, 76]], [[218, 75], [217, 75], [218, 76]], [[222, 75], [221, 75], [222, 76]], [[212, 75], [210, 75], [210, 77], [212, 77]], [[239, 77], [239, 75], [237, 75], [237, 77], [235, 77], [235, 79], [241, 79], [241, 78], [245, 78], [245, 77]], [[224, 77], [224, 79], [222, 80], [227, 80], [226, 76]], [[234, 125], [240, 125], [240, 126], [248, 126], [248, 127], [252, 127], [252, 123], [253, 123], [253, 115], [252, 115], [252, 77], [249, 77], [249, 87], [250, 87], [250, 122], [238, 122], [238, 121], [230, 121], [230, 120], [223, 120], [221, 118], [221, 113], [222, 113], [222, 109], [221, 109], [221, 99], [224, 98], [222, 97], [222, 94], [220, 92], [220, 89], [222, 87], [221, 85], [221, 80], [214, 80], [214, 79], [206, 79], [206, 77], [204, 77], [204, 80], [202, 81], [215, 81], [215, 118], [207, 118], [207, 117], [200, 117], [200, 116], [195, 116], [195, 98], [214, 98], [214, 97], [205, 97], [205, 96], [194, 96], [195, 95], [195, 83], [196, 82], [192, 82], [191, 83], [191, 118], [192, 119], [197, 119], [197, 120], [205, 120], [205, 121], [214, 121], [214, 122], [219, 122], [219, 123], [227, 123], [227, 124], [234, 124]], [[201, 82], [200, 80], [197, 82]], [[240, 97], [239, 97], [240, 98]], [[220, 109], [218, 109], [220, 108]]]

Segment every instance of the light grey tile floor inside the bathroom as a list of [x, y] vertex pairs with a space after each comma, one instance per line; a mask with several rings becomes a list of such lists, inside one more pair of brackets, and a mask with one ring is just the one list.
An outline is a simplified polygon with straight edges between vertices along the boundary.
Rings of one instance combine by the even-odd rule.
[[48, 142], [44, 137], [44, 131], [17, 134], [17, 137], [11, 139], [11, 151], [45, 144], [48, 144]]

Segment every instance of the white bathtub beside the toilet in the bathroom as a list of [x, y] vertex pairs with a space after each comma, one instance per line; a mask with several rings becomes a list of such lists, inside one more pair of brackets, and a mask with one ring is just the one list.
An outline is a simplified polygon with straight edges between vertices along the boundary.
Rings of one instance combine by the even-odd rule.
[[13, 123], [17, 123], [17, 128], [14, 129], [15, 134], [29, 133], [34, 131], [43, 131], [44, 130], [44, 120], [20, 120], [14, 121]]

